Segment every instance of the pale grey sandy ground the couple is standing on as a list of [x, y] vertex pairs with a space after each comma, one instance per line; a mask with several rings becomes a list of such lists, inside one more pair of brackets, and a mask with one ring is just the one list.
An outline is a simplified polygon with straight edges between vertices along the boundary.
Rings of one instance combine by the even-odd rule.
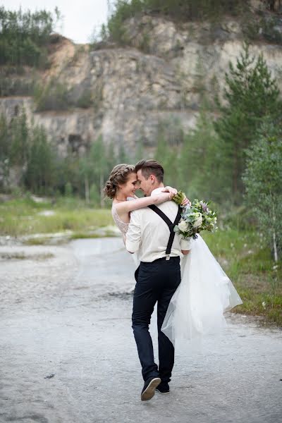
[[218, 338], [181, 345], [171, 393], [142, 403], [121, 239], [0, 247], [16, 252], [35, 256], [0, 261], [1, 423], [282, 422], [281, 331], [232, 315]]

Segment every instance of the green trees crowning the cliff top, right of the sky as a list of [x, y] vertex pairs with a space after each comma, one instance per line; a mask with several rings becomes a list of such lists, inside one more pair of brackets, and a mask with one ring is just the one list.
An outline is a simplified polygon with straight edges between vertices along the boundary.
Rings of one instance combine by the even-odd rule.
[[108, 4], [111, 13], [94, 39], [94, 48], [99, 45], [98, 39], [130, 45], [126, 21], [142, 15], [161, 16], [176, 24], [200, 20], [216, 24], [224, 16], [232, 16], [240, 22], [245, 39], [282, 43], [280, 17], [274, 13], [278, 8], [273, 0], [264, 0], [258, 10], [249, 0], [109, 0]]

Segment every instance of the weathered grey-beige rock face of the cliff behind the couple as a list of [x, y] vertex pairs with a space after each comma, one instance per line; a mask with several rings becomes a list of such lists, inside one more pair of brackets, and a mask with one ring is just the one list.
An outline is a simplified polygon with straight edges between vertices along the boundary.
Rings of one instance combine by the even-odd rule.
[[[9, 119], [24, 106], [29, 121], [42, 124], [61, 154], [82, 153], [102, 135], [106, 144], [123, 145], [134, 157], [136, 142], [156, 145], [160, 125], [175, 140], [179, 128], [193, 128], [203, 93], [221, 95], [228, 61], [235, 63], [243, 39], [237, 22], [187, 23], [177, 26], [162, 18], [143, 16], [127, 24], [130, 47], [89, 51], [64, 39], [42, 74], [68, 88], [71, 104], [87, 96], [82, 109], [35, 111], [32, 97], [2, 97], [0, 113]], [[252, 54], [264, 58], [282, 90], [282, 48], [253, 44]]]

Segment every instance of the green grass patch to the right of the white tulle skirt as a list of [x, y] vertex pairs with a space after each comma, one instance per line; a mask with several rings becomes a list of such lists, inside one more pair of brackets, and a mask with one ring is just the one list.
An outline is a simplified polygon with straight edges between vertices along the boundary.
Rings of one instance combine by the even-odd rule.
[[274, 262], [264, 237], [228, 229], [204, 234], [204, 239], [243, 300], [235, 312], [282, 326], [282, 261]]

